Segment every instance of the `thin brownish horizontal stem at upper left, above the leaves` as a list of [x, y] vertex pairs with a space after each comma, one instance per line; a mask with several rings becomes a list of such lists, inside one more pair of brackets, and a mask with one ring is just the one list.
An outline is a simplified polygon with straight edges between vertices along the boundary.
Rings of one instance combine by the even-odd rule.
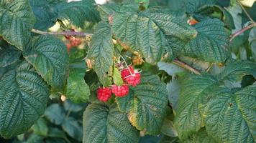
[[83, 33], [83, 32], [78, 32], [78, 31], [61, 31], [61, 32], [55, 32], [55, 31], [40, 31], [37, 29], [32, 29], [33, 33], [36, 34], [42, 34], [42, 35], [46, 35], [46, 34], [52, 34], [52, 35], [65, 35], [65, 36], [92, 36], [93, 34], [87, 34], [87, 33]]

